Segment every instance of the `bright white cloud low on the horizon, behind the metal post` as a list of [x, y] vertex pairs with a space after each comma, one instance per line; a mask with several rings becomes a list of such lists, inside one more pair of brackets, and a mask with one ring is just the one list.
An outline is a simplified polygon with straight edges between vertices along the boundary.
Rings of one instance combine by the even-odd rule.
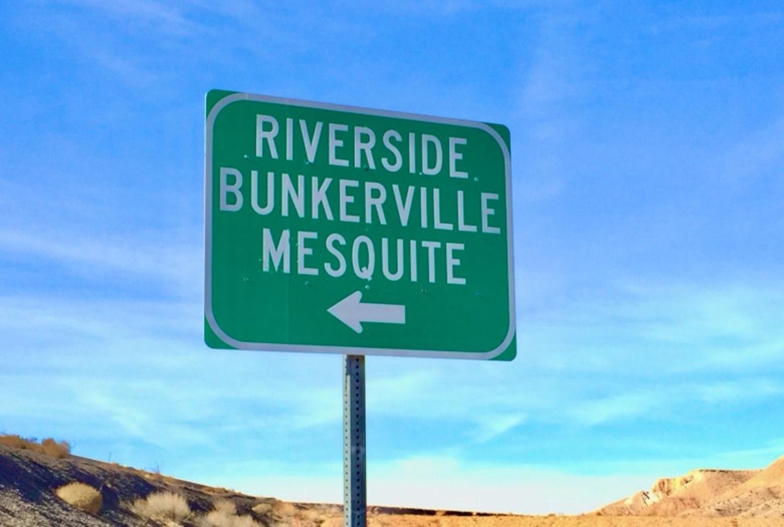
[[[187, 471], [186, 471], [187, 472]], [[237, 474], [242, 476], [237, 476]], [[233, 475], [229, 475], [233, 474]], [[368, 504], [452, 511], [579, 514], [647, 489], [659, 475], [581, 475], [522, 464], [470, 464], [450, 456], [368, 459]], [[343, 501], [340, 464], [273, 462], [228, 466], [208, 477], [253, 495], [321, 503]]]

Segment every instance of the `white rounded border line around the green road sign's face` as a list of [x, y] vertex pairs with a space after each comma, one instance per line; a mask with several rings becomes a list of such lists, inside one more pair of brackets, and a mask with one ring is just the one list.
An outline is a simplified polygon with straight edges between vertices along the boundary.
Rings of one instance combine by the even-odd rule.
[[[289, 106], [305, 106], [322, 110], [337, 110], [353, 114], [376, 115], [379, 117], [395, 117], [408, 119], [410, 121], [436, 122], [445, 125], [459, 125], [470, 128], [478, 128], [487, 132], [499, 144], [503, 152], [504, 164], [506, 167], [506, 252], [508, 254], [509, 269], [509, 330], [500, 345], [489, 352], [448, 352], [427, 349], [397, 349], [397, 348], [361, 348], [353, 346], [322, 346], [322, 345], [292, 345], [278, 343], [260, 343], [238, 341], [230, 337], [218, 325], [215, 315], [212, 313], [212, 127], [215, 120], [226, 106], [237, 101], [258, 101], [261, 103], [285, 104]], [[204, 163], [204, 182], [205, 182], [205, 288], [204, 288], [204, 312], [209, 323], [209, 327], [227, 345], [237, 349], [258, 350], [269, 352], [307, 352], [307, 353], [336, 353], [340, 355], [377, 355], [377, 356], [398, 356], [398, 357], [429, 357], [441, 359], [493, 359], [501, 355], [509, 347], [514, 339], [517, 321], [514, 316], [514, 246], [512, 236], [512, 176], [510, 166], [510, 153], [503, 139], [485, 123], [477, 121], [463, 121], [459, 119], [448, 119], [446, 117], [431, 117], [419, 114], [405, 114], [389, 110], [372, 110], [361, 106], [343, 106], [339, 104], [315, 103], [299, 99], [286, 99], [284, 97], [254, 95], [251, 93], [232, 93], [220, 99], [215, 106], [212, 106], [207, 121], [205, 123], [205, 163]]]

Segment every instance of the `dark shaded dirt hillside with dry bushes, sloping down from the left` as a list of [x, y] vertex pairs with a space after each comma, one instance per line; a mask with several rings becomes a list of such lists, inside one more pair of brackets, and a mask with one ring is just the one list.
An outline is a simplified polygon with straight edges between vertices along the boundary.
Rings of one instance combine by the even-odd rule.
[[[336, 504], [247, 496], [67, 453], [54, 457], [29, 447], [29, 442], [24, 448], [0, 442], [0, 527], [317, 527], [325, 522], [339, 525], [343, 518], [343, 507]], [[56, 495], [57, 489], [74, 482], [96, 489], [100, 512], [80, 510]], [[150, 496], [162, 499], [150, 505]], [[400, 507], [368, 507], [368, 513], [399, 518], [506, 516]]]

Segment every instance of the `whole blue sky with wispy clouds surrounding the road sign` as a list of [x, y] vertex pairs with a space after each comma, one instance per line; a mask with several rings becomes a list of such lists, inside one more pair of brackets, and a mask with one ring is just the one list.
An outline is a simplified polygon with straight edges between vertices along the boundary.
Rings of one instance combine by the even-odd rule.
[[511, 130], [517, 359], [368, 358], [370, 502], [579, 512], [764, 466], [781, 42], [780, 2], [5, 2], [0, 431], [342, 499], [340, 357], [202, 342], [225, 88]]

